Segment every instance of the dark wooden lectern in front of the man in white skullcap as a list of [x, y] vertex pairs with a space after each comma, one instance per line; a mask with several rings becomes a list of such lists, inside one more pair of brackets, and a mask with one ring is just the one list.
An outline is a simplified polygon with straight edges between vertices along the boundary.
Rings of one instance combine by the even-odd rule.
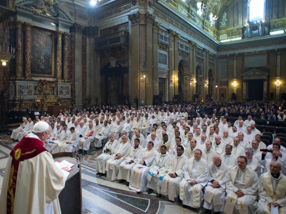
[[[72, 156], [72, 152], [58, 152], [52, 154], [55, 161], [66, 160], [74, 166], [66, 179], [66, 185], [59, 194], [60, 211], [62, 214], [82, 213], [82, 193], [81, 193], [81, 163], [80, 156]], [[79, 166], [79, 167], [78, 167]]]

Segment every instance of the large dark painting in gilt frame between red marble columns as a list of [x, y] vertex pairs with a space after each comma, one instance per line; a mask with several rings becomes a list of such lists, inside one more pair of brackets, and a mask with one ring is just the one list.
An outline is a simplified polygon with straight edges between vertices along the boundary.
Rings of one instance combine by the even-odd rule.
[[54, 76], [54, 33], [32, 28], [31, 32], [32, 76]]

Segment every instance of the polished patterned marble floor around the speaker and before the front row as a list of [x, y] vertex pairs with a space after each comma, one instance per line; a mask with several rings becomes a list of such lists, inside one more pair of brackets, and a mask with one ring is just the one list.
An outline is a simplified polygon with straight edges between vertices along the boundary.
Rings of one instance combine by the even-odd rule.
[[[13, 143], [10, 136], [0, 136], [0, 187], [7, 157], [16, 143]], [[202, 209], [184, 208], [178, 201], [171, 202], [167, 197], [156, 198], [156, 192], [150, 195], [147, 192], [137, 194], [130, 190], [125, 183], [112, 182], [105, 177], [95, 174], [95, 163], [101, 150], [90, 150], [82, 158], [82, 196], [83, 213], [101, 214], [128, 214], [128, 213], [203, 213]], [[1, 192], [1, 191], [0, 191]]]

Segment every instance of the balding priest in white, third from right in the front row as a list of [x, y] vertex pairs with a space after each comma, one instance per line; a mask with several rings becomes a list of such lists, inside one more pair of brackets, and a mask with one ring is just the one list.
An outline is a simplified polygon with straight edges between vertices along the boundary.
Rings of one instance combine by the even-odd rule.
[[223, 212], [228, 171], [228, 167], [222, 162], [220, 155], [215, 155], [213, 162], [209, 163], [209, 179], [205, 187], [203, 207], [206, 208], [206, 214], [211, 214], [212, 209], [215, 214]]

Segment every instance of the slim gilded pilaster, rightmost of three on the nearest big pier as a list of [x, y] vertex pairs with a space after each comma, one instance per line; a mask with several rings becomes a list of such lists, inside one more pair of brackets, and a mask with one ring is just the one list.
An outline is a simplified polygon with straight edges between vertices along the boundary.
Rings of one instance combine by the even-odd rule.
[[153, 95], [158, 95], [158, 30], [161, 24], [153, 22]]

